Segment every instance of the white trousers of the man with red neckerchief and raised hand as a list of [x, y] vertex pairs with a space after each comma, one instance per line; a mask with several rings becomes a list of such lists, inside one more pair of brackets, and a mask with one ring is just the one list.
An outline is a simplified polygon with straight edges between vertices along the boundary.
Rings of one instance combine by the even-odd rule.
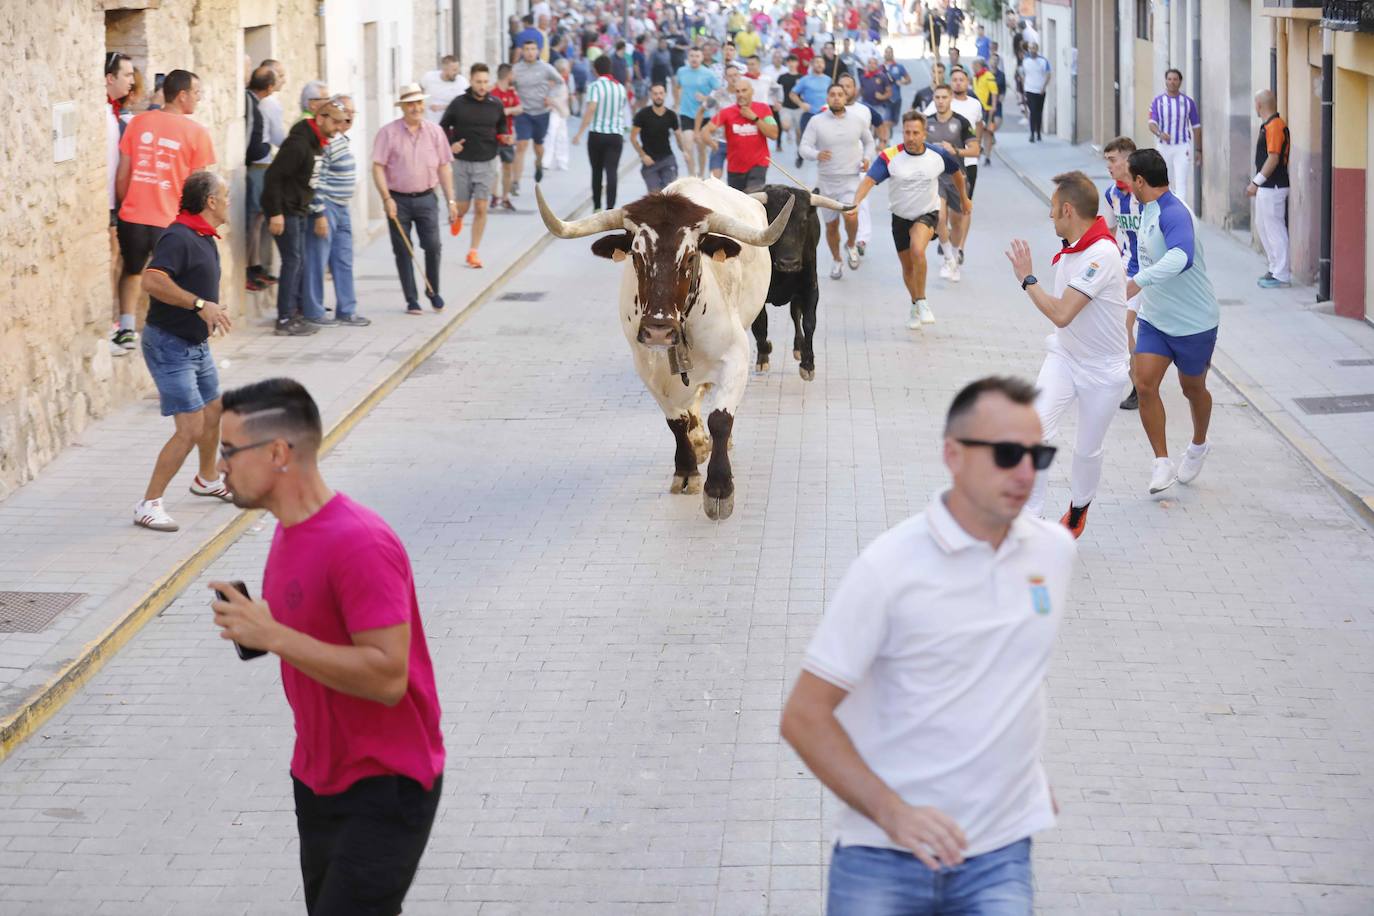
[[[1123, 374], [1120, 380], [1105, 383], [1059, 353], [1050, 352], [1044, 357], [1040, 378], [1036, 379], [1040, 394], [1036, 396], [1035, 409], [1040, 415], [1046, 442], [1054, 442], [1059, 437], [1059, 422], [1069, 405], [1073, 402], [1079, 405], [1079, 434], [1073, 444], [1073, 470], [1069, 474], [1073, 505], [1087, 505], [1098, 494], [1098, 482], [1102, 479], [1102, 446], [1112, 417], [1120, 412], [1121, 390], [1128, 380]], [[1026, 512], [1041, 515], [1048, 488], [1050, 471], [1036, 474], [1035, 488], [1026, 500]]]

